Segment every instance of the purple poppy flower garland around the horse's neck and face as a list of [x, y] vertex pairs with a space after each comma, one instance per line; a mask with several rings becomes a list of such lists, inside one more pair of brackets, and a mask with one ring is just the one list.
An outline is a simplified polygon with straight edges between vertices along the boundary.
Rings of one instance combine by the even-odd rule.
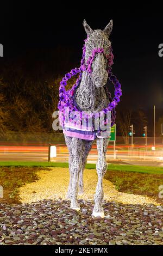
[[[87, 39], [86, 39], [87, 40]], [[84, 40], [84, 41], [86, 41]], [[79, 86], [81, 80], [82, 80], [82, 73], [84, 70], [87, 72], [91, 73], [92, 72], [92, 62], [95, 59], [96, 54], [98, 53], [103, 53], [104, 54], [104, 49], [103, 48], [97, 48], [92, 51], [92, 55], [89, 57], [87, 60], [87, 65], [85, 64], [85, 51], [86, 47], [85, 44], [83, 46], [83, 55], [82, 55], [82, 60], [80, 62], [80, 68], [75, 68], [72, 69], [70, 73], [67, 73], [64, 78], [62, 78], [62, 81], [60, 82], [60, 87], [59, 87], [59, 103], [58, 103], [58, 109], [59, 109], [59, 120], [60, 120], [60, 125], [64, 126], [64, 120], [65, 120], [65, 115], [64, 115], [64, 109], [65, 107], [69, 107], [70, 112], [78, 111], [78, 108], [74, 105], [73, 102], [73, 94], [76, 88]], [[104, 54], [105, 56], [105, 54]], [[108, 94], [109, 97], [109, 105], [107, 108], [103, 109], [103, 113], [106, 114], [108, 111], [111, 112], [111, 126], [114, 125], [115, 123], [115, 107], [117, 106], [118, 102], [120, 102], [120, 97], [122, 96], [122, 90], [121, 90], [121, 84], [117, 80], [116, 76], [112, 75], [111, 72], [111, 66], [114, 64], [113, 59], [114, 55], [112, 53], [112, 48], [110, 47], [110, 54], [105, 56], [108, 59], [108, 77], [109, 80], [114, 84], [115, 87], [115, 97], [112, 99], [111, 94], [108, 92], [108, 89], [106, 89], [106, 93]], [[67, 81], [70, 80], [71, 77], [79, 74], [79, 77], [77, 78], [76, 83], [73, 85], [73, 87], [70, 90], [65, 89], [67, 85]], [[80, 114], [80, 121], [82, 121], [82, 117], [84, 119], [87, 118], [87, 114], [85, 112], [79, 112]], [[90, 118], [95, 117], [96, 114], [91, 113], [89, 114]], [[108, 123], [108, 120], [105, 120], [105, 124]]]

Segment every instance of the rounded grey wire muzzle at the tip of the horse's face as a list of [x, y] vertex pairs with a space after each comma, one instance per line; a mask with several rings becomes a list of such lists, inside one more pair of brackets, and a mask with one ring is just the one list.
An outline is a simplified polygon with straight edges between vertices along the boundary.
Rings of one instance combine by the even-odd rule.
[[92, 80], [96, 87], [102, 87], [107, 83], [108, 72], [105, 69], [94, 70]]

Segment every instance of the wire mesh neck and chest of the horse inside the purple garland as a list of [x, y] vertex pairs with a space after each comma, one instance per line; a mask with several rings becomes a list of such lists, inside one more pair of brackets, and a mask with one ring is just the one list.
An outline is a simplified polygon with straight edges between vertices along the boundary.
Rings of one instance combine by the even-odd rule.
[[104, 87], [97, 88], [86, 71], [76, 92], [76, 102], [83, 111], [101, 111], [108, 103]]

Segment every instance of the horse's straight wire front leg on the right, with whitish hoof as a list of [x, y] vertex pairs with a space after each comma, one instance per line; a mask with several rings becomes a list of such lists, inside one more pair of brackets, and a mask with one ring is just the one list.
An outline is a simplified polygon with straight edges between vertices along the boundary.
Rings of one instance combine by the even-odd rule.
[[103, 192], [103, 177], [106, 173], [108, 164], [106, 163], [106, 151], [108, 147], [108, 138], [97, 138], [97, 150], [98, 150], [98, 161], [96, 164], [98, 182], [95, 194], [95, 206], [93, 209], [92, 216], [100, 216], [104, 218], [104, 210], [102, 207], [102, 199], [104, 197]]

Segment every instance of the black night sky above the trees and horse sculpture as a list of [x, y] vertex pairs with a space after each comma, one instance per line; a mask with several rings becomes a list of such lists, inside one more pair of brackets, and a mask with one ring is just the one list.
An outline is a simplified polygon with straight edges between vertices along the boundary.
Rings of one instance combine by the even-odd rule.
[[[71, 3], [61, 7], [48, 1], [37, 5], [30, 1], [5, 4], [0, 17], [3, 60], [26, 56], [25, 52], [36, 48], [43, 48], [43, 54], [48, 56], [49, 51], [57, 48], [58, 54], [62, 56], [63, 51], [69, 60], [68, 72], [80, 64], [86, 38], [83, 20], [92, 29], [103, 29], [112, 19], [113, 73], [122, 83], [121, 107], [163, 107], [163, 57], [158, 56], [158, 46], [163, 44], [161, 8], [118, 9], [98, 3], [85, 11], [84, 3], [78, 3], [78, 8], [71, 8]], [[62, 62], [64, 58], [61, 57]], [[48, 58], [45, 61], [48, 63]], [[60, 70], [60, 74], [64, 71]], [[55, 72], [58, 71], [54, 69]]]

